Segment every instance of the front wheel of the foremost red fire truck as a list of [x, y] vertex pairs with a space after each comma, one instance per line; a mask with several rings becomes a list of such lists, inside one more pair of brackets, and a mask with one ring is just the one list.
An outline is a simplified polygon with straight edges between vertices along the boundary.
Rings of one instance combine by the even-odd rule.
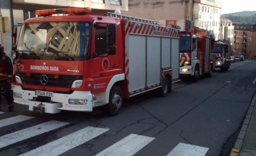
[[116, 116], [119, 114], [123, 106], [123, 93], [122, 90], [113, 86], [109, 94], [109, 115]]

